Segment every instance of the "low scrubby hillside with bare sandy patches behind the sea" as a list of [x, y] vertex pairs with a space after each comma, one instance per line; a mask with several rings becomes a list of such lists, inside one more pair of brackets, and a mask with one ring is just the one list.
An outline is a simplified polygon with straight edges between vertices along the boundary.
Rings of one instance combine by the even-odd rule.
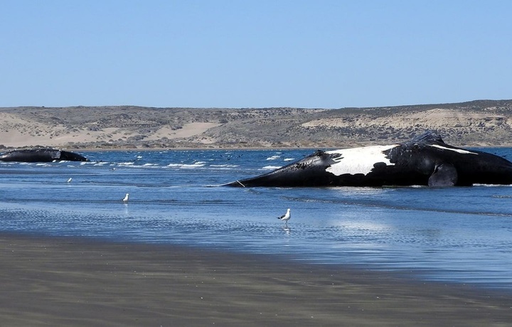
[[459, 146], [512, 146], [512, 100], [400, 107], [0, 108], [0, 147], [68, 149], [347, 147], [404, 141], [427, 129]]

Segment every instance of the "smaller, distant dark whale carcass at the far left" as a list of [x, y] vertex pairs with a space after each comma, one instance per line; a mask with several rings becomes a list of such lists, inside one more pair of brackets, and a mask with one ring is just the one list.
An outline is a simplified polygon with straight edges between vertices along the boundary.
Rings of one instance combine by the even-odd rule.
[[22, 149], [12, 150], [0, 155], [0, 161], [51, 162], [51, 161], [87, 161], [85, 156], [58, 149]]

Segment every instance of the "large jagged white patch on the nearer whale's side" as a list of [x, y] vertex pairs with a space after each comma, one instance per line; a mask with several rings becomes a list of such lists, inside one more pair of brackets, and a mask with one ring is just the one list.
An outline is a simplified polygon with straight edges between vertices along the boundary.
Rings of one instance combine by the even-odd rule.
[[361, 148], [341, 149], [326, 151], [326, 154], [340, 154], [338, 158], [333, 158], [336, 164], [332, 164], [326, 171], [341, 176], [346, 173], [355, 175], [356, 173], [368, 174], [373, 169], [373, 165], [383, 162], [388, 166], [394, 164], [386, 158], [383, 151], [393, 149], [399, 144], [364, 146]]

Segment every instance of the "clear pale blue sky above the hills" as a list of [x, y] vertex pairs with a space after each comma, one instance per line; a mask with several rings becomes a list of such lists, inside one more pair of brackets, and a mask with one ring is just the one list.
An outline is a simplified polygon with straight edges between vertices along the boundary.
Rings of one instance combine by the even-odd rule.
[[510, 0], [2, 0], [0, 107], [512, 99]]

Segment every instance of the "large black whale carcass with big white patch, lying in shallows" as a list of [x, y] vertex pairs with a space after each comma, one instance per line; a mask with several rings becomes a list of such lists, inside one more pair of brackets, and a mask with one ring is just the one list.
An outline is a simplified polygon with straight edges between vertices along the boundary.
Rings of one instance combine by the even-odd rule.
[[445, 144], [434, 132], [386, 146], [316, 151], [226, 186], [471, 186], [512, 184], [512, 162]]

